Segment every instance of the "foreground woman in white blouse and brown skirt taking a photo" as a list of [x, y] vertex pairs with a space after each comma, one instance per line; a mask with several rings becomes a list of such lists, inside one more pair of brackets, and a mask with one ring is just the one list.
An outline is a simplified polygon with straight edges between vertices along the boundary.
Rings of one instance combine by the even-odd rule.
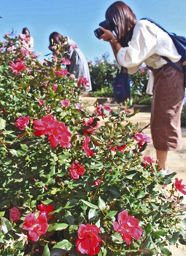
[[151, 135], [157, 152], [160, 170], [167, 173], [167, 152], [180, 150], [180, 115], [184, 102], [184, 75], [161, 56], [181, 69], [181, 56], [170, 36], [148, 20], [136, 20], [133, 11], [122, 1], [113, 3], [105, 17], [115, 19], [116, 36], [104, 32], [99, 39], [111, 44], [117, 63], [129, 74], [137, 72], [143, 61], [153, 68], [153, 104], [151, 108]]

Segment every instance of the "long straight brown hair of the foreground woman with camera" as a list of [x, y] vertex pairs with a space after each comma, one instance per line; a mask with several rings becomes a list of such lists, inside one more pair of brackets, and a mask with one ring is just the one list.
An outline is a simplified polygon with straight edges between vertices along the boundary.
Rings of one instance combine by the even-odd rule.
[[117, 1], [108, 7], [105, 18], [112, 22], [115, 19], [115, 32], [122, 47], [128, 46], [136, 24], [136, 15], [126, 3]]

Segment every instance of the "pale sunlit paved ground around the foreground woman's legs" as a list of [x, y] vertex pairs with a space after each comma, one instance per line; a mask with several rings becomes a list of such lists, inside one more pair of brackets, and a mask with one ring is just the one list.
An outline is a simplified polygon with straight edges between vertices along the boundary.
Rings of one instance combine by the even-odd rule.
[[[106, 98], [105, 98], [106, 99]], [[88, 104], [88, 109], [90, 112], [94, 111], [94, 105], [96, 98], [92, 97], [82, 97], [82, 101]], [[99, 104], [106, 103], [104, 100], [100, 99]], [[109, 105], [109, 102], [108, 102]], [[113, 106], [112, 109], [116, 109], [116, 106]], [[140, 123], [141, 127], [145, 127], [150, 123], [150, 113], [143, 112], [134, 115], [134, 117], [130, 118], [130, 121], [133, 123]], [[182, 128], [182, 145], [183, 148], [180, 151], [170, 151], [168, 152], [168, 166], [170, 168], [170, 172], [177, 172], [176, 177], [179, 179], [183, 179], [183, 183], [186, 184], [186, 130]], [[149, 137], [151, 137], [150, 127], [148, 127], [144, 131]], [[151, 156], [151, 158], [156, 159], [155, 149], [153, 147], [153, 143], [149, 143], [146, 150], [144, 151], [144, 155]], [[185, 196], [186, 197], [186, 196]], [[184, 203], [186, 203], [186, 198], [184, 199]], [[171, 251], [173, 256], [185, 256], [186, 250], [183, 245], [179, 245], [177, 249], [176, 246], [171, 246]]]

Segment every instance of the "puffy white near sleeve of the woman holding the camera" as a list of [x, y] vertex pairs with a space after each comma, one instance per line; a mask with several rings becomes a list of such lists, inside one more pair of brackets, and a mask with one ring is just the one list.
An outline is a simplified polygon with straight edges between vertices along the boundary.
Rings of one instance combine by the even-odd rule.
[[155, 53], [157, 36], [151, 24], [147, 20], [137, 22], [128, 47], [122, 47], [117, 52], [118, 63], [127, 68], [128, 73], [137, 72], [143, 61]]

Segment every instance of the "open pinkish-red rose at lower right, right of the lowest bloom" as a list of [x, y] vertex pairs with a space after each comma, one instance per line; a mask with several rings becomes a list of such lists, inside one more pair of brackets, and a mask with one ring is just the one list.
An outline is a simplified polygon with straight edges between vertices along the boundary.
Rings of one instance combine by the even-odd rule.
[[136, 240], [141, 239], [143, 229], [139, 226], [137, 218], [128, 215], [127, 210], [120, 212], [117, 220], [118, 222], [114, 221], [112, 223], [113, 228], [116, 232], [122, 234], [122, 240], [124, 240], [127, 245], [130, 245], [132, 237]]

